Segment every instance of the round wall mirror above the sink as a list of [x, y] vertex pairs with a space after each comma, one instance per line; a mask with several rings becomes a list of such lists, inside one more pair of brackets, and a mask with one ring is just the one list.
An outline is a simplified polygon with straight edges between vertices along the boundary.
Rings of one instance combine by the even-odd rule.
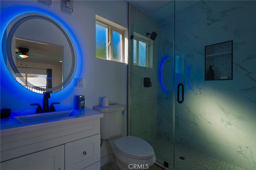
[[76, 66], [74, 44], [52, 18], [23, 14], [10, 22], [5, 35], [2, 51], [6, 66], [24, 88], [54, 93], [72, 80]]

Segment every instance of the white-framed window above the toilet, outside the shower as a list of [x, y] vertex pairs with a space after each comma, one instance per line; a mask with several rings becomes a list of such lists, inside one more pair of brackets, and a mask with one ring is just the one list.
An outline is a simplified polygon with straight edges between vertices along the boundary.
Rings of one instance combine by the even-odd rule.
[[125, 62], [125, 28], [96, 15], [96, 57]]

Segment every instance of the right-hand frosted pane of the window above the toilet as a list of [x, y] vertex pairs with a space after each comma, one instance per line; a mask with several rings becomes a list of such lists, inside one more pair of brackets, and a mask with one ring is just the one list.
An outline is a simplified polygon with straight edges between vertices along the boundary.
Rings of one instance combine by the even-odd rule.
[[113, 42], [113, 59], [122, 59], [122, 35], [115, 31], [112, 31], [112, 42]]

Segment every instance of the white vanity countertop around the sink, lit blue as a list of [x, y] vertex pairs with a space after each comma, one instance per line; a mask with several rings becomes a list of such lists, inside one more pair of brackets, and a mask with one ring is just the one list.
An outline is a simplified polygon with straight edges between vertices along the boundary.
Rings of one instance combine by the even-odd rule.
[[[6, 135], [12, 135], [16, 133], [22, 133], [22, 132], [28, 132], [28, 131], [34, 131], [38, 129], [43, 129], [46, 127], [54, 127], [58, 125], [65, 125], [70, 123], [76, 123], [81, 121], [87, 121], [91, 119], [98, 119], [103, 117], [103, 113], [100, 113], [98, 111], [92, 110], [92, 109], [73, 109], [74, 111], [79, 112], [79, 115], [71, 116], [71, 117], [64, 117], [49, 121], [38, 121], [38, 122], [32, 122], [32, 123], [21, 123], [17, 119], [14, 118], [14, 116], [22, 114], [29, 114], [30, 112], [20, 112], [20, 113], [12, 113], [9, 118], [1, 119], [0, 121], [0, 136], [6, 136]], [[58, 110], [56, 110], [58, 111]], [[63, 111], [60, 110], [60, 111]], [[32, 113], [30, 113], [32, 114]], [[38, 114], [44, 114], [44, 113], [38, 113]]]

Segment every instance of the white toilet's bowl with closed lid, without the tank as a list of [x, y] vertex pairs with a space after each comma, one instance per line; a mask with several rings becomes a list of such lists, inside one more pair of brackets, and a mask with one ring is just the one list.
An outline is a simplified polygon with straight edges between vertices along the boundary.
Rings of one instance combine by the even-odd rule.
[[156, 161], [152, 146], [134, 136], [108, 139], [117, 166], [121, 170], [148, 169]]

